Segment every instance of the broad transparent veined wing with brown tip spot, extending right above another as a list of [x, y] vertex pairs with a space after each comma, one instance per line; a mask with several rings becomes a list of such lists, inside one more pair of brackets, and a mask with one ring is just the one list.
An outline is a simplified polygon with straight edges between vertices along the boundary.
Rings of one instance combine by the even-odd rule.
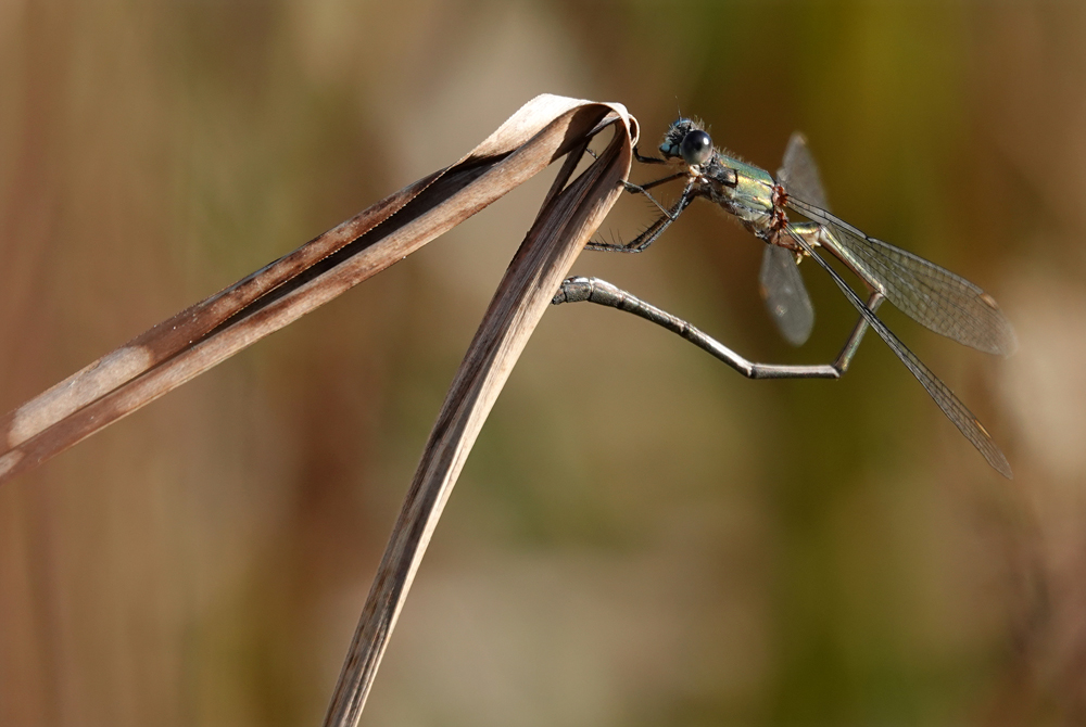
[[871, 238], [801, 197], [788, 207], [825, 225], [826, 248], [921, 326], [989, 354], [1018, 347], [1014, 329], [983, 290], [919, 255]]

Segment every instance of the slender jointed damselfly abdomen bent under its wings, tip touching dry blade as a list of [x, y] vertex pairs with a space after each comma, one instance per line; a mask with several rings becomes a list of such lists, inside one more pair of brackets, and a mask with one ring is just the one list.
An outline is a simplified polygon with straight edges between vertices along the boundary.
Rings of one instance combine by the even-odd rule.
[[[672, 316], [666, 310], [645, 303], [631, 293], [620, 288], [611, 285], [606, 280], [599, 278], [568, 278], [563, 281], [557, 295], [551, 302], [553, 305], [561, 303], [578, 303], [588, 301], [598, 305], [610, 306], [627, 313], [632, 313], [657, 326], [662, 326], [672, 333], [678, 333], [682, 337], [693, 343], [698, 348], [708, 352], [712, 356], [732, 367], [747, 379], [839, 379], [856, 355], [860, 341], [868, 330], [868, 320], [860, 316], [844, 348], [834, 359], [833, 364], [816, 365], [788, 365], [788, 364], [755, 364], [743, 358], [731, 348], [728, 348], [719, 341], [706, 335], [697, 328], [677, 316]], [[879, 309], [883, 296], [875, 292], [868, 298], [867, 309], [872, 314]]]

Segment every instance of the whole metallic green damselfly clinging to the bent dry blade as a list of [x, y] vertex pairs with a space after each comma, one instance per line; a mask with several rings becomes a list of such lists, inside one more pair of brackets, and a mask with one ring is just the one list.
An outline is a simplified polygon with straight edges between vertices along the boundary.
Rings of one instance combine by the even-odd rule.
[[[799, 133], [792, 136], [784, 163], [774, 179], [765, 169], [727, 155], [712, 145], [694, 120], [680, 118], [660, 144], [662, 158], [639, 162], [679, 166], [679, 170], [647, 184], [624, 182], [628, 191], [644, 194], [662, 213], [627, 244], [593, 242], [591, 250], [640, 253], [651, 245], [696, 197], [706, 197], [733, 215], [766, 243], [759, 280], [770, 316], [794, 345], [810, 335], [815, 310], [804, 288], [798, 263], [810, 257], [823, 268], [860, 313], [860, 319], [833, 364], [816, 366], [753, 364], [671, 314], [640, 301], [597, 278], [570, 278], [555, 304], [590, 301], [636, 314], [679, 333], [752, 379], [837, 379], [847, 369], [867, 329], [873, 328], [912, 372], [943, 412], [1000, 474], [1010, 477], [1007, 458], [976, 417], [931, 370], [894, 335], [875, 311], [889, 301], [913, 320], [955, 341], [990, 354], [1010, 354], [1016, 343], [1010, 322], [995, 299], [964, 278], [894, 245], [868, 237], [828, 211], [818, 167]], [[648, 190], [684, 180], [679, 201], [670, 208]], [[788, 212], [805, 221], [792, 221]], [[856, 273], [870, 290], [867, 303], [816, 252], [828, 251]]]

